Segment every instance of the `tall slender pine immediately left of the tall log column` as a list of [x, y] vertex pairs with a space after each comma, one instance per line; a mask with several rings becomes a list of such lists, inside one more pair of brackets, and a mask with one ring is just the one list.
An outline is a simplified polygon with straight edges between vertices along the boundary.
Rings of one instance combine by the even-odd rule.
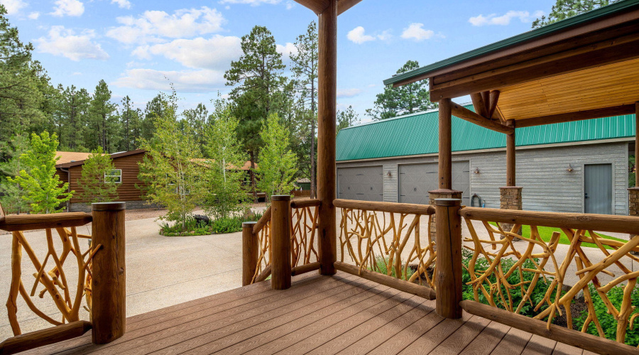
[[[308, 25], [306, 33], [297, 37], [295, 48], [297, 48], [297, 54], [290, 55], [290, 60], [293, 61], [291, 70], [295, 75], [296, 89], [301, 94], [302, 124], [310, 126], [310, 133], [307, 133], [309, 141], [308, 165], [310, 166], [308, 175], [311, 181], [311, 198], [313, 198], [315, 197], [315, 125], [317, 124], [317, 67], [319, 63], [319, 44], [315, 21]], [[306, 130], [300, 131], [305, 132]], [[306, 151], [302, 151], [303, 153]]]

